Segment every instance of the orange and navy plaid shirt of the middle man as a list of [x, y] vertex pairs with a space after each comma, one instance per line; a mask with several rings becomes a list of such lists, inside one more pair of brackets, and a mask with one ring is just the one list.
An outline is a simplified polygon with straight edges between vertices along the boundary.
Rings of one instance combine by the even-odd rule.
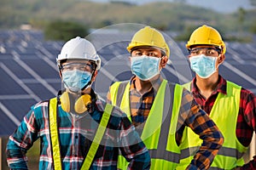
[[[148, 113], [154, 102], [155, 95], [160, 88], [162, 77], [152, 82], [152, 88], [145, 94], [139, 94], [135, 88], [136, 77], [131, 77], [130, 88], [130, 105], [131, 119], [135, 126], [145, 122], [148, 118]], [[111, 101], [110, 93], [108, 92], [108, 102]], [[189, 107], [188, 107], [189, 104]], [[200, 105], [195, 103], [192, 95], [188, 90], [183, 90], [182, 103], [180, 107], [180, 115], [177, 122], [176, 142], [181, 144], [183, 130], [185, 126], [194, 129], [194, 132], [200, 134], [204, 138], [204, 143], [200, 150], [196, 153], [194, 160], [189, 165], [189, 168], [199, 167], [205, 169], [213, 161], [218, 150], [224, 142], [222, 134], [219, 132], [215, 123], [201, 110]], [[142, 127], [142, 126], [138, 126]], [[141, 133], [143, 129], [137, 129]], [[207, 134], [207, 135], [206, 135]]]

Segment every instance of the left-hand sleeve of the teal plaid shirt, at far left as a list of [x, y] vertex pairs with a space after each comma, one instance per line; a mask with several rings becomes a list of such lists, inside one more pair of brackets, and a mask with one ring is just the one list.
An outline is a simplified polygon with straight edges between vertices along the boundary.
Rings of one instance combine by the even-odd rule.
[[35, 116], [33, 111], [29, 111], [24, 116], [20, 126], [9, 136], [6, 147], [7, 162], [11, 169], [27, 169], [26, 151], [32, 147], [37, 139], [35, 131]]

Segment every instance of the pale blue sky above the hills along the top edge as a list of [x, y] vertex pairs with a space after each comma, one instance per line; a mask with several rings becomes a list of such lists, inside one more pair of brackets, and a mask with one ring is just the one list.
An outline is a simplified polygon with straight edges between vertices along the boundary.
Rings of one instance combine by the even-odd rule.
[[[102, 2], [102, 3], [109, 2], [109, 0], [91, 0], [91, 1]], [[139, 1], [118, 0], [118, 1], [126, 1], [131, 3], [143, 4], [143, 3], [152, 3], [152, 2], [173, 2], [173, 1], [178, 2], [179, 0], [139, 0]], [[185, 1], [189, 4], [197, 5], [204, 8], [211, 8], [212, 10], [215, 10], [219, 13], [225, 13], [225, 14], [235, 12], [238, 8], [244, 8], [244, 9], [253, 8], [250, 4], [250, 0], [214, 0], [214, 1], [180, 0], [180, 1]]]

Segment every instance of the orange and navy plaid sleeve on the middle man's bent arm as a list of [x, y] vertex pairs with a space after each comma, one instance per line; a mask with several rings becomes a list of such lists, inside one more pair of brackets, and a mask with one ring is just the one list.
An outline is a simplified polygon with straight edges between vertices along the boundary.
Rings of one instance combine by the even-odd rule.
[[184, 123], [203, 140], [188, 168], [206, 169], [210, 167], [213, 158], [224, 143], [224, 137], [216, 124], [205, 111], [201, 110], [201, 106], [195, 102], [186, 89], [183, 90], [180, 117], [182, 120], [179, 120], [179, 124]]

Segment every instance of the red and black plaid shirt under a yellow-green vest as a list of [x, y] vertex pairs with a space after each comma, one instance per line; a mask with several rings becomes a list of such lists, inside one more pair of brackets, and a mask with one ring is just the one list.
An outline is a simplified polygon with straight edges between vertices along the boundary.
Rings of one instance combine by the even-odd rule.
[[[218, 93], [227, 94], [227, 82], [223, 77], [219, 76], [218, 85], [208, 99], [200, 94], [195, 83], [196, 78], [194, 78], [191, 83], [191, 93], [195, 101], [201, 105], [202, 109], [210, 114]], [[241, 88], [236, 137], [244, 146], [248, 146], [251, 143], [253, 129], [256, 132], [256, 97], [252, 92]], [[241, 169], [256, 169], [256, 156], [253, 156], [253, 160], [244, 165]]]

